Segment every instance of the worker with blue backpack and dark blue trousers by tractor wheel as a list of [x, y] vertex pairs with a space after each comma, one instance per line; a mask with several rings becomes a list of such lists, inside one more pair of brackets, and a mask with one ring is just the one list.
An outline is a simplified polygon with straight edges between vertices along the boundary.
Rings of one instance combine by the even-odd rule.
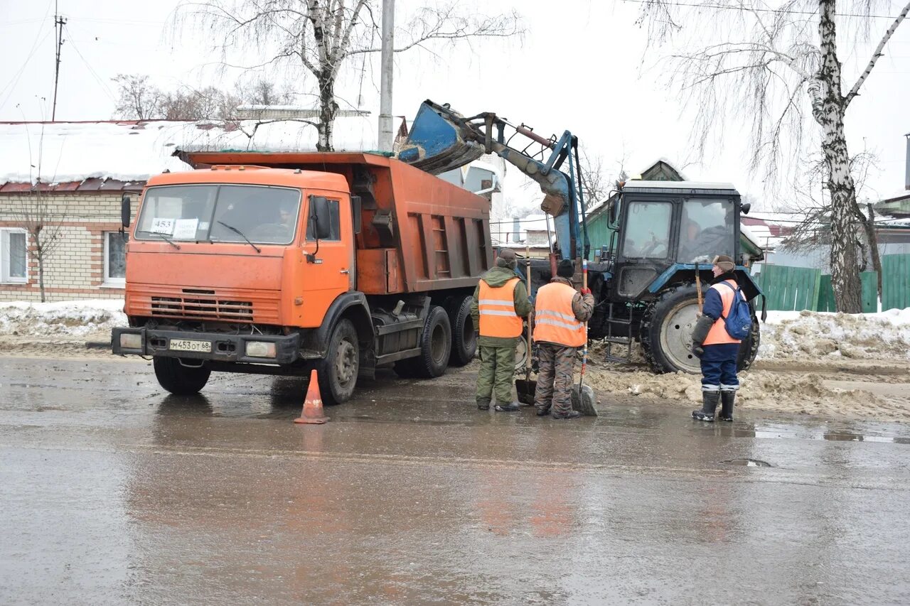
[[[713, 260], [711, 271], [714, 280], [704, 296], [701, 318], [693, 329], [693, 354], [702, 361], [702, 409], [693, 410], [693, 419], [713, 423], [718, 401], [721, 403], [721, 420], [733, 420], [733, 400], [739, 389], [736, 363], [742, 342], [727, 333], [724, 322], [730, 316], [733, 296], [739, 283], [734, 270], [736, 264], [726, 255]], [[740, 293], [742, 296], [742, 293]]]

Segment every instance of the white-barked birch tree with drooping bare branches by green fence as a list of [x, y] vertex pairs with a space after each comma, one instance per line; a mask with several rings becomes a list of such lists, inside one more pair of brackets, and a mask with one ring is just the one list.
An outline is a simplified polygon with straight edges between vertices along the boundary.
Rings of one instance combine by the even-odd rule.
[[[669, 62], [672, 86], [678, 86], [695, 108], [700, 150], [709, 135], [722, 133], [724, 123], [733, 118], [737, 125], [750, 127], [751, 168], [763, 169], [765, 177], [774, 180], [780, 177], [782, 164], [792, 163], [804, 151], [804, 126], [808, 116], [813, 118], [817, 128], [810, 131], [810, 138], [818, 142], [816, 149], [824, 157], [834, 299], [839, 311], [858, 313], [862, 259], [856, 242], [863, 222], [856, 212], [844, 119], [910, 12], [910, 3], [885, 29], [862, 73], [844, 94], [837, 25], [849, 18], [868, 26], [873, 3], [848, 6], [849, 15], [839, 20], [835, 0], [784, 0], [776, 8], [761, 0], [701, 0], [690, 5], [646, 0], [641, 21], [655, 39], [688, 34], [682, 47], [696, 49], [673, 54]], [[686, 16], [697, 17], [692, 27], [687, 27]], [[857, 29], [862, 30], [846, 31], [855, 34]]]

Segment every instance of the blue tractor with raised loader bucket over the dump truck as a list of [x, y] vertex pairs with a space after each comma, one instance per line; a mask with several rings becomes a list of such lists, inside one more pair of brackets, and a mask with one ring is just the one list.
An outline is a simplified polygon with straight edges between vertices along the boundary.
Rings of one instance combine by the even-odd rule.
[[[550, 280], [558, 258], [591, 258], [578, 146], [569, 131], [545, 138], [489, 112], [462, 116], [428, 100], [399, 159], [440, 174], [496, 154], [540, 185], [541, 209], [553, 217], [556, 242], [549, 259], [531, 260], [533, 294]], [[729, 255], [738, 260], [738, 278], [753, 309], [752, 332], [740, 350], [740, 369], [747, 369], [758, 351], [755, 301], [762, 294], [748, 268], [762, 250], [741, 234], [740, 217], [749, 208], [735, 187], [627, 181], [606, 204], [612, 238], [593, 251], [588, 265], [597, 303], [589, 337], [605, 342], [606, 359], [630, 361], [632, 344], [639, 341], [656, 372], [698, 372], [692, 329], [712, 279], [712, 258]]]

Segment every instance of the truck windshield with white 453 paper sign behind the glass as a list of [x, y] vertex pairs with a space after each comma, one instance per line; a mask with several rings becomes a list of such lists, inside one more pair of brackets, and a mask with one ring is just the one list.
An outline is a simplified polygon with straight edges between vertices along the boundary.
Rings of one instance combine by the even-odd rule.
[[299, 212], [300, 191], [288, 187], [149, 187], [136, 239], [290, 244]]

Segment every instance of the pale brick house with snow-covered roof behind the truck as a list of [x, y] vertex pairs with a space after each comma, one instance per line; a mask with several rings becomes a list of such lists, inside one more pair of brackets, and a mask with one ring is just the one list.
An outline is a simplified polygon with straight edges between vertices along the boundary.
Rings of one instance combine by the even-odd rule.
[[[336, 149], [374, 149], [376, 131], [369, 116], [339, 117]], [[45, 260], [45, 299], [123, 298], [121, 197], [136, 193], [135, 217], [148, 177], [189, 169], [177, 149], [312, 150], [316, 140], [314, 126], [294, 121], [0, 123], [0, 301], [41, 300], [35, 243], [21, 219], [37, 199], [61, 235]]]

